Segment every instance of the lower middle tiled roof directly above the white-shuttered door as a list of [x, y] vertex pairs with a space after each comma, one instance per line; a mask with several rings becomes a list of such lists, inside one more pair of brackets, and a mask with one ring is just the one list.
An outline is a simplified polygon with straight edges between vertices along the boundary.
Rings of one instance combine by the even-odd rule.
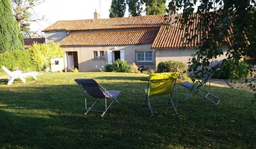
[[94, 32], [70, 34], [60, 41], [62, 46], [72, 45], [136, 45], [152, 44], [158, 29], [120, 32]]

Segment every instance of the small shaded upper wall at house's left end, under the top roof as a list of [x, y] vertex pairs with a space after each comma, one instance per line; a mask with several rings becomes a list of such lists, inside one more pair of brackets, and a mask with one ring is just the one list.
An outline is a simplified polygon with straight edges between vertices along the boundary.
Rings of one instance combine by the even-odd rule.
[[68, 32], [50, 31], [50, 32], [44, 32], [44, 35], [45, 35], [45, 43], [48, 44], [51, 41], [60, 42], [62, 39], [68, 36]]

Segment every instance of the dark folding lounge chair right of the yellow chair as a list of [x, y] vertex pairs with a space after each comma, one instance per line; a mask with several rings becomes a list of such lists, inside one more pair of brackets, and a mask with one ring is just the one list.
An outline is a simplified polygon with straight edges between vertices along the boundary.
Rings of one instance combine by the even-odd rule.
[[[220, 102], [220, 99], [216, 96], [214, 96], [213, 94], [211, 94], [210, 92], [210, 87], [211, 87], [211, 77], [212, 77], [212, 73], [214, 70], [220, 68], [220, 65], [221, 65], [222, 61], [220, 61], [219, 63], [217, 63], [213, 70], [208, 74], [206, 75], [203, 80], [198, 84], [198, 85], [194, 85], [193, 83], [190, 83], [188, 81], [185, 81], [184, 83], [181, 84], [181, 86], [184, 86], [186, 87], [187, 89], [190, 89], [192, 92], [190, 94], [188, 94], [188, 96], [183, 100], [186, 101], [188, 100], [188, 98], [197, 90], [199, 89], [199, 91], [197, 92], [197, 94], [201, 97], [203, 97], [204, 99], [208, 100], [209, 102], [212, 102], [213, 104], [219, 104]], [[209, 88], [206, 89], [206, 83], [209, 82]], [[203, 87], [204, 85], [204, 87]], [[199, 94], [200, 91], [203, 91], [203, 94]]]

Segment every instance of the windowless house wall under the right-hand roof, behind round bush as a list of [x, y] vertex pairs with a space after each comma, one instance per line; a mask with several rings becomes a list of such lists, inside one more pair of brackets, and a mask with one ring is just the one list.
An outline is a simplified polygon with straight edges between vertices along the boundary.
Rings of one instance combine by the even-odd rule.
[[[225, 54], [227, 53], [227, 48], [223, 49], [224, 55], [221, 55], [220, 57], [217, 57], [216, 60], [223, 60], [226, 58]], [[192, 48], [186, 48], [185, 50], [183, 49], [177, 49], [177, 48], [172, 48], [172, 49], [156, 49], [156, 66], [158, 63], [162, 61], [167, 61], [167, 60], [175, 60], [175, 61], [180, 61], [188, 65], [187, 63], [189, 62], [189, 59], [191, 58], [191, 54], [195, 53]]]

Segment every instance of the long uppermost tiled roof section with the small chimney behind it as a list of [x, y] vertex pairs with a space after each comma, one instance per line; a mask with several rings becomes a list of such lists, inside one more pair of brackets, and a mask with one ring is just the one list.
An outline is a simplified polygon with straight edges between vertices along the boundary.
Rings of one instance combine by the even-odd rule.
[[164, 15], [57, 21], [45, 28], [43, 32], [57, 30], [86, 31], [99, 29], [152, 28], [160, 27], [163, 22], [166, 22], [166, 20], [164, 20]]

